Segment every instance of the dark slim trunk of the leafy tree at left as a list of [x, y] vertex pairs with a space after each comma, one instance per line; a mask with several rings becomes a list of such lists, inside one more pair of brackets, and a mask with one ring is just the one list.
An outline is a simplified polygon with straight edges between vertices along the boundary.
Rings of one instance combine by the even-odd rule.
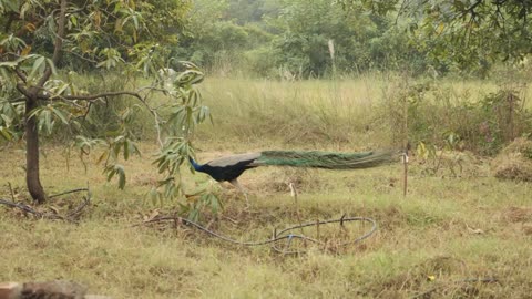
[[39, 131], [35, 117], [29, 117], [37, 107], [37, 99], [25, 100], [25, 183], [33, 200], [42, 204], [47, 195], [39, 177]]

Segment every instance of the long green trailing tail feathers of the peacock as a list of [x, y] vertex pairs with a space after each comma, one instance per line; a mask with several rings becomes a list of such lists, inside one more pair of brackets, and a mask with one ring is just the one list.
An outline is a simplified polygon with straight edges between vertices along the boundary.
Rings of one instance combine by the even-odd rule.
[[317, 167], [327, 169], [356, 169], [390, 163], [397, 151], [374, 151], [362, 153], [265, 151], [254, 165], [283, 165], [294, 167]]

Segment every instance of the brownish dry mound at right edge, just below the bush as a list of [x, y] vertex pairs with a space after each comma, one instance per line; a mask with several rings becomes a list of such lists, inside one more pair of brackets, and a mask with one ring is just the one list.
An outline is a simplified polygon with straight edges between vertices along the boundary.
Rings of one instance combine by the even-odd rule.
[[492, 165], [497, 178], [532, 182], [532, 141], [516, 138], [501, 151]]

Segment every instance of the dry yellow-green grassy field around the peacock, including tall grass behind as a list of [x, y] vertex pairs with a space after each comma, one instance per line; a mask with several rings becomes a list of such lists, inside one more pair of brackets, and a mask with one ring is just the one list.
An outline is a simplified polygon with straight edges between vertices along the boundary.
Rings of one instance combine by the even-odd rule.
[[[497, 87], [446, 84], [457, 97]], [[336, 83], [207, 80], [203, 93], [216, 125], [201, 130], [195, 142], [198, 158], [263, 148], [357, 151], [389, 145], [389, 131], [366, 125], [377, 127], [382, 99], [399, 86], [400, 82], [392, 86], [369, 76]], [[308, 245], [306, 254], [284, 256], [267, 246], [233, 246], [185, 226], [132, 227], [157, 208], [167, 212], [176, 204], [157, 207], [146, 200], [158, 178], [150, 154], [155, 144], [145, 141], [141, 146], [146, 154], [126, 163], [124, 192], [115, 182], [105, 182], [95, 157], [86, 159], [86, 172], [75, 158], [66, 169], [61, 148], [45, 146], [41, 172], [48, 192], [89, 184], [93, 205], [79, 224], [34, 220], [0, 207], [0, 280], [72, 279], [113, 298], [531, 296], [532, 186], [495, 179], [490, 159], [467, 159], [459, 176], [446, 167], [424, 175], [427, 166], [412, 159], [407, 197], [400, 164], [352, 172], [248, 171], [241, 181], [250, 190], [249, 207], [224, 184], [218, 190], [224, 210], [211, 228], [239, 240], [267, 239], [274, 228], [299, 219], [349, 215], [378, 223], [374, 236], [345, 248], [336, 247], [335, 240], [357, 237], [369, 226], [323, 227], [320, 238], [329, 241], [325, 250]], [[25, 198], [23, 150], [4, 148], [2, 157], [0, 197], [11, 197], [10, 183], [14, 197]], [[184, 175], [190, 188], [203, 178]], [[289, 182], [297, 185], [297, 205]], [[53, 199], [50, 206], [64, 212], [74, 200], [79, 198]], [[209, 220], [207, 216], [204, 224]]]

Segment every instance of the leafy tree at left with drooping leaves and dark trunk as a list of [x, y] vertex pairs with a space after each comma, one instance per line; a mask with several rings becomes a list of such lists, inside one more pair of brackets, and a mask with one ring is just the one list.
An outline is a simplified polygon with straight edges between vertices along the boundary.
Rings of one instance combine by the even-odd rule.
[[[28, 155], [28, 187], [34, 199], [45, 199], [39, 182], [38, 136], [55, 134], [59, 125], [66, 127], [80, 157], [102, 150], [99, 162], [108, 181], [117, 177], [119, 187], [124, 188], [122, 162], [141, 155], [132, 127], [142, 111], [155, 122], [160, 158], [167, 163], [158, 167], [166, 176], [160, 183], [166, 192], [160, 194], [183, 195], [180, 166], [193, 155], [191, 137], [196, 125], [209, 117], [195, 87], [203, 73], [188, 62], [174, 62], [180, 71], [171, 70], [172, 75], [160, 70], [170, 70], [167, 49], [177, 41], [188, 8], [187, 1], [171, 0], [0, 2], [0, 135], [10, 142], [28, 140], [28, 151], [33, 153]], [[80, 71], [100, 71], [103, 81], [96, 91], [76, 80], [75, 72], [62, 70], [74, 61], [80, 62]], [[102, 91], [100, 86], [109, 86], [105, 79], [113, 73], [121, 76], [121, 85]], [[133, 81], [139, 76], [154, 80], [137, 87]], [[154, 93], [168, 101], [152, 107]], [[136, 103], [109, 105], [119, 96]], [[160, 113], [166, 109], [167, 117]], [[90, 130], [94, 110], [106, 111], [104, 122], [114, 124], [94, 134]]]

